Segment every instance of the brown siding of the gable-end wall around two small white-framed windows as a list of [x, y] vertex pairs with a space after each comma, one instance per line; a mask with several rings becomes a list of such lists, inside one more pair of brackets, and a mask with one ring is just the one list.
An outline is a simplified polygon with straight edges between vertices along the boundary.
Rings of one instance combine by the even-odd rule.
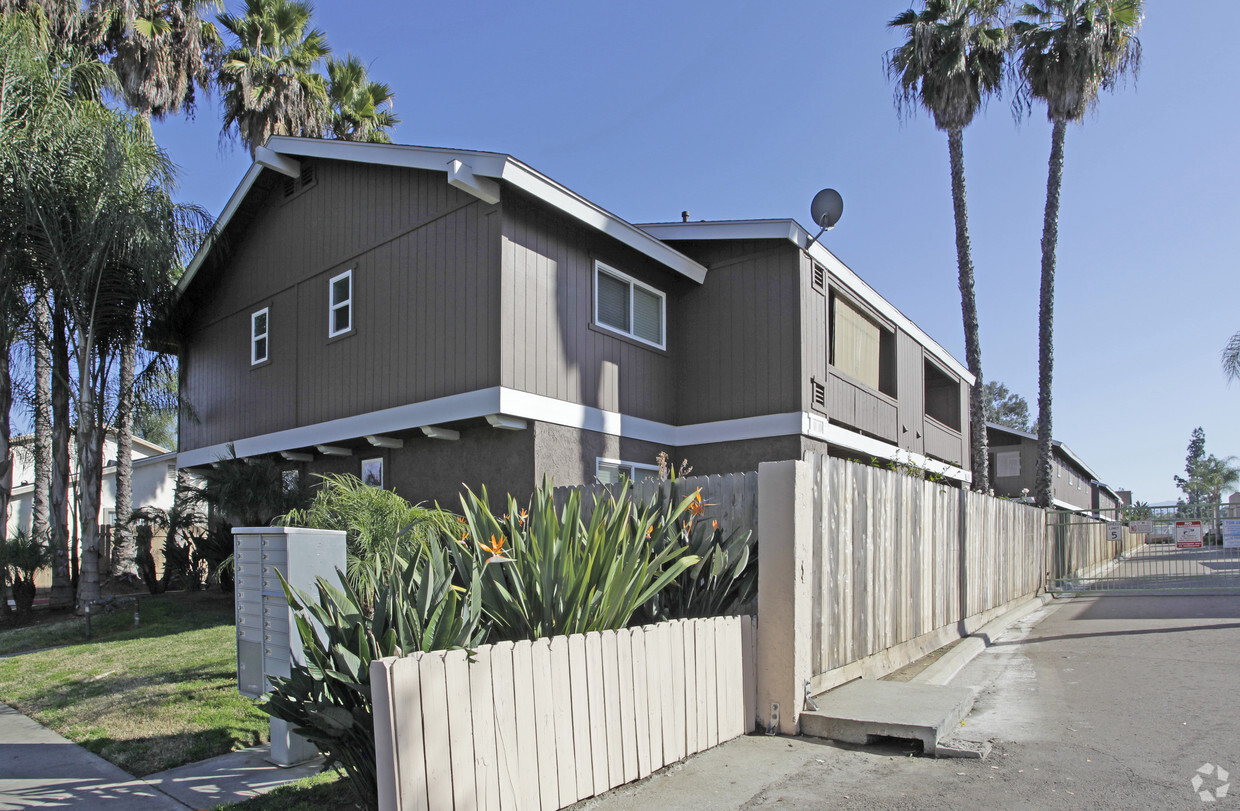
[[[200, 422], [181, 448], [498, 384], [498, 217], [440, 172], [321, 161], [281, 186], [191, 293], [184, 358]], [[353, 334], [327, 337], [327, 280], [353, 269]], [[270, 303], [270, 363], [249, 314]]]

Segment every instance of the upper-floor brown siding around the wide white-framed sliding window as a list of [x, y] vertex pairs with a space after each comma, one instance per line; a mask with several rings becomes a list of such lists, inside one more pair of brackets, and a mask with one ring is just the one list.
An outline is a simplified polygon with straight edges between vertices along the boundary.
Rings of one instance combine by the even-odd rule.
[[[503, 202], [500, 316], [502, 386], [672, 423], [676, 329], [692, 281], [637, 252], [510, 193]], [[594, 327], [594, 263], [666, 295], [667, 351]]]

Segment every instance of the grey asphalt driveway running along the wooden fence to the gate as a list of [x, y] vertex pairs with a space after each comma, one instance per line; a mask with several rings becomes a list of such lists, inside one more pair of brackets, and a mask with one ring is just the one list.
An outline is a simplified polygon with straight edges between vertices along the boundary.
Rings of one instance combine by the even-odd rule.
[[[994, 740], [987, 760], [750, 737], [583, 806], [1240, 811], [1240, 596], [1058, 601], [952, 683], [981, 689], [961, 732]], [[1234, 795], [1194, 794], [1205, 764]]]

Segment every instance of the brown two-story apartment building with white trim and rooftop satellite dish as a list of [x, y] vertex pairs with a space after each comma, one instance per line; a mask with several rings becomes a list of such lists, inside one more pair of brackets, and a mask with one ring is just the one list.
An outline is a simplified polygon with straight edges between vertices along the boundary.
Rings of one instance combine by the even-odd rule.
[[177, 304], [179, 464], [415, 500], [830, 451], [967, 481], [949, 352], [789, 219], [635, 226], [516, 159], [273, 138]]

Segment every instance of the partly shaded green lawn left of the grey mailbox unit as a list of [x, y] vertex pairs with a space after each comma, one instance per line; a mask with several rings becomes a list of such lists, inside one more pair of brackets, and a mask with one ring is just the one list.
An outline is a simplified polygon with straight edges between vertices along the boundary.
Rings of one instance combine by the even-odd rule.
[[136, 776], [267, 740], [237, 692], [232, 595], [146, 598], [136, 629], [124, 610], [99, 620], [91, 642], [78, 620], [0, 631], [0, 650], [35, 651], [0, 660], [0, 701]]

